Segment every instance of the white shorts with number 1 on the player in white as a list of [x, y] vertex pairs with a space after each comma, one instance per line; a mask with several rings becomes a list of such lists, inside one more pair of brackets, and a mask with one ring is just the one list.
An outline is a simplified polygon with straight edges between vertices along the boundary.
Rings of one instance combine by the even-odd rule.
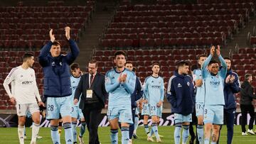
[[16, 110], [18, 116], [26, 116], [28, 111], [33, 114], [39, 112], [39, 107], [37, 103], [33, 104], [16, 104]]

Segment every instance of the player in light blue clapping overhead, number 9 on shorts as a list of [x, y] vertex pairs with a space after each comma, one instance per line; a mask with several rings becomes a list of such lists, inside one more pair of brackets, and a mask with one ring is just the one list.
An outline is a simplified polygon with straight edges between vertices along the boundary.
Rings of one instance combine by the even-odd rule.
[[220, 125], [223, 124], [224, 100], [224, 79], [227, 74], [228, 67], [225, 60], [220, 55], [220, 46], [216, 49], [216, 54], [221, 62], [219, 70], [218, 62], [211, 60], [215, 52], [215, 47], [210, 48], [210, 55], [202, 66], [202, 77], [206, 87], [206, 97], [204, 106], [203, 122], [205, 124], [205, 144], [210, 143], [210, 130], [213, 128], [212, 142], [218, 141]]

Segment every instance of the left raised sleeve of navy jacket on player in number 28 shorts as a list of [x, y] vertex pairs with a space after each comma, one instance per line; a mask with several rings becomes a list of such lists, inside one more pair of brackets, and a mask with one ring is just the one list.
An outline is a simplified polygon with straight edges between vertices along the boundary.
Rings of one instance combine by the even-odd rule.
[[48, 62], [47, 55], [50, 52], [51, 45], [53, 45], [53, 43], [49, 41], [48, 43], [46, 43], [46, 45], [43, 46], [43, 48], [40, 51], [40, 54], [38, 56], [38, 61], [42, 67], [46, 66]]

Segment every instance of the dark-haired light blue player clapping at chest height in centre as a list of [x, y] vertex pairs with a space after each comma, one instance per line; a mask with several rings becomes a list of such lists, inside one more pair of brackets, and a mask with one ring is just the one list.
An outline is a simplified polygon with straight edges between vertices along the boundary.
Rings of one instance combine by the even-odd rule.
[[136, 75], [124, 65], [126, 53], [114, 53], [116, 67], [105, 75], [105, 89], [109, 93], [107, 116], [110, 121], [111, 143], [118, 143], [118, 122], [121, 123], [122, 144], [129, 143], [129, 125], [132, 124], [131, 94], [134, 92]]

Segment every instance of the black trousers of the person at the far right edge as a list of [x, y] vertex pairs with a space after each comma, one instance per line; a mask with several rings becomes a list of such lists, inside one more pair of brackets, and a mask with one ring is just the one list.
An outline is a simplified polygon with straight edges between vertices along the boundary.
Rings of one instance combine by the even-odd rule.
[[247, 112], [250, 114], [250, 122], [249, 122], [249, 129], [251, 130], [253, 128], [253, 123], [255, 121], [255, 111], [252, 104], [250, 105], [240, 105], [241, 113], [242, 113], [242, 132], [245, 133], [245, 125], [247, 123]]

